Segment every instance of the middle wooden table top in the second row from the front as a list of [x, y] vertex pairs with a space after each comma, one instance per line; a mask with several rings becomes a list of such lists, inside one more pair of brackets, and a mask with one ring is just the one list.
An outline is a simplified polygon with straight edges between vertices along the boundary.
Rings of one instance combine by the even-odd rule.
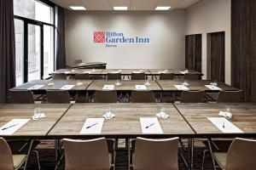
[[[117, 81], [113, 81], [113, 80], [95, 80], [94, 82], [92, 82], [90, 84], [90, 86], [89, 86], [89, 88], [87, 88], [87, 90], [102, 90], [104, 85], [114, 85], [116, 82]], [[119, 86], [114, 85], [114, 90], [118, 90], [118, 91], [136, 90], [135, 85], [144, 85], [144, 83], [147, 81], [146, 80], [134, 80], [134, 81], [133, 80], [122, 80], [119, 82], [121, 83], [121, 85], [119, 85]], [[148, 90], [154, 90], [154, 91], [161, 90], [158, 83], [155, 82], [154, 80], [150, 80], [148, 82], [150, 82], [150, 85], [147, 86]]]

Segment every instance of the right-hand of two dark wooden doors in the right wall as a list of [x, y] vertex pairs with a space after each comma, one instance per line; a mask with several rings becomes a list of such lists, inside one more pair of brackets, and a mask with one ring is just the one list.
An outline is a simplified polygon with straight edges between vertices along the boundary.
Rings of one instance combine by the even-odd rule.
[[225, 33], [207, 34], [207, 79], [225, 81]]

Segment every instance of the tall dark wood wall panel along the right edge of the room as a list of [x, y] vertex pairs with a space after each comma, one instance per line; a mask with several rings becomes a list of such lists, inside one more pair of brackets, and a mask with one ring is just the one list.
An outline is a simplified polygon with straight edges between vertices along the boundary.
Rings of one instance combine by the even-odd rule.
[[256, 1], [231, 1], [231, 78], [245, 101], [256, 102]]

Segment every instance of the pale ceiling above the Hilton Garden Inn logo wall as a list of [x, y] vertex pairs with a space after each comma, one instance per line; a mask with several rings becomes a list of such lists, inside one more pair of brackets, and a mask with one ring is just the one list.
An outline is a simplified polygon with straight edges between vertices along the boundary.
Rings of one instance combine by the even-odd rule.
[[114, 6], [127, 6], [128, 10], [154, 10], [157, 6], [189, 8], [200, 0], [50, 0], [63, 8], [84, 6], [87, 10], [113, 10]]

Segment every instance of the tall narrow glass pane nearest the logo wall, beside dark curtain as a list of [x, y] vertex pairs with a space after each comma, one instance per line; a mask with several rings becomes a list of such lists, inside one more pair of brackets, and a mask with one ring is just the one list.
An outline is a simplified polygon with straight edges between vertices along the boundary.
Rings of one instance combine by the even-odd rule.
[[44, 78], [54, 71], [54, 28], [44, 26]]

